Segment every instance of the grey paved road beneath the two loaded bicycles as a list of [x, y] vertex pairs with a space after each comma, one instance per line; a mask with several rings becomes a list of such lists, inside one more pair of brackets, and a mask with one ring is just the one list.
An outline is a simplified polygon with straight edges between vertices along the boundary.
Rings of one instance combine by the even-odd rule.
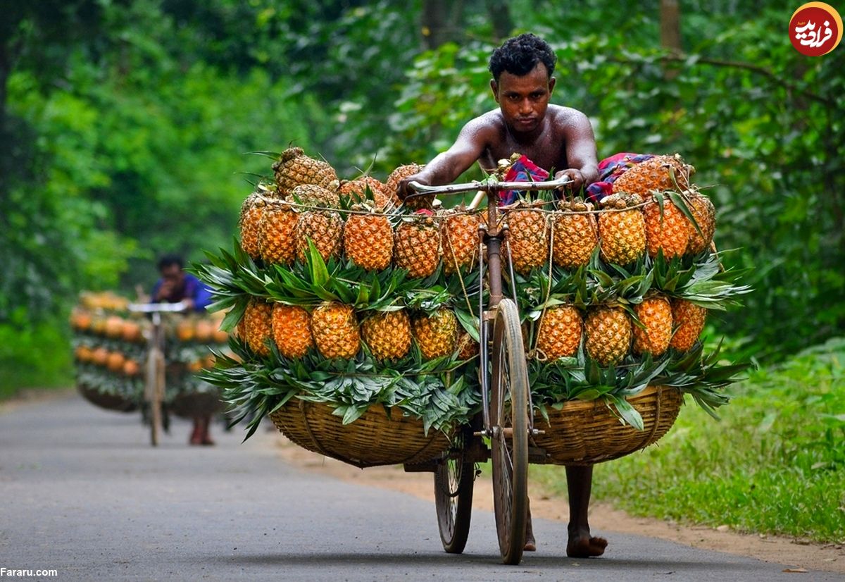
[[[188, 447], [177, 422], [154, 449], [138, 415], [76, 397], [0, 415], [0, 567], [55, 568], [51, 580], [842, 579], [621, 534], [602, 559], [549, 544], [507, 567], [482, 512], [451, 556], [433, 504], [303, 472], [275, 456], [275, 436], [242, 435], [216, 427], [218, 446]], [[535, 528], [563, 547], [564, 524]]]

